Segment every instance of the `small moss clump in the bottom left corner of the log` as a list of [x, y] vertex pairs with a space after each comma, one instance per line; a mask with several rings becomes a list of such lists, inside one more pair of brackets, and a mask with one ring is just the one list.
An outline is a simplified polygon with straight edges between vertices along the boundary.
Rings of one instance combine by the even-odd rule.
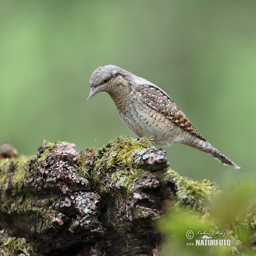
[[3, 241], [3, 251], [5, 253], [10, 253], [11, 255], [23, 255], [29, 256], [33, 252], [32, 247], [26, 243], [25, 238], [9, 237], [7, 239], [2, 239]]

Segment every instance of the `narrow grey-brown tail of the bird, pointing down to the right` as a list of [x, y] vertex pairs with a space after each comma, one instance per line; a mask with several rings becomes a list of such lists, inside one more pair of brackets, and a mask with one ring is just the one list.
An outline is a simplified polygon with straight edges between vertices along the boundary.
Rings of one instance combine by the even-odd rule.
[[[199, 138], [198, 138], [199, 139]], [[192, 148], [196, 148], [200, 151], [206, 152], [212, 157], [216, 158], [218, 161], [223, 163], [227, 166], [232, 166], [235, 169], [240, 169], [240, 167], [231, 161], [228, 157], [226, 157], [224, 154], [222, 154], [220, 151], [218, 151], [217, 148], [213, 147], [208, 141], [199, 139], [197, 143], [193, 143], [192, 145], [189, 145]]]

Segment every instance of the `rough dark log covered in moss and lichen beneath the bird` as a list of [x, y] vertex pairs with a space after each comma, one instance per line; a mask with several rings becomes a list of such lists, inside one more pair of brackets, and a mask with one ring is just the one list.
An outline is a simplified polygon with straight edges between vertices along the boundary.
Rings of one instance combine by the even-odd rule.
[[177, 175], [147, 138], [81, 152], [44, 141], [35, 156], [0, 159], [0, 253], [157, 256], [166, 205], [204, 211], [215, 189]]

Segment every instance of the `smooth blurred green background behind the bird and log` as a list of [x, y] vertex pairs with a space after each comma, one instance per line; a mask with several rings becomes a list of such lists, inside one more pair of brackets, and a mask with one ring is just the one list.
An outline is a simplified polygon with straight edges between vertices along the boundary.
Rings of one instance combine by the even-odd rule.
[[255, 171], [255, 0], [1, 1], [0, 144], [34, 154], [43, 139], [80, 151], [134, 136], [107, 93], [86, 100], [104, 64], [157, 84], [241, 166], [164, 148], [180, 175], [221, 182]]

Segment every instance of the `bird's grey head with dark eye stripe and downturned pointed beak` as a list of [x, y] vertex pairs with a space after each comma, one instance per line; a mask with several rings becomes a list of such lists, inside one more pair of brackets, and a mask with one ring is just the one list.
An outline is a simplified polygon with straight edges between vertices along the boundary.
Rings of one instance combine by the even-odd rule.
[[90, 94], [88, 99], [96, 93], [106, 91], [111, 92], [113, 88], [127, 81], [127, 71], [114, 65], [104, 65], [98, 67], [90, 77]]

